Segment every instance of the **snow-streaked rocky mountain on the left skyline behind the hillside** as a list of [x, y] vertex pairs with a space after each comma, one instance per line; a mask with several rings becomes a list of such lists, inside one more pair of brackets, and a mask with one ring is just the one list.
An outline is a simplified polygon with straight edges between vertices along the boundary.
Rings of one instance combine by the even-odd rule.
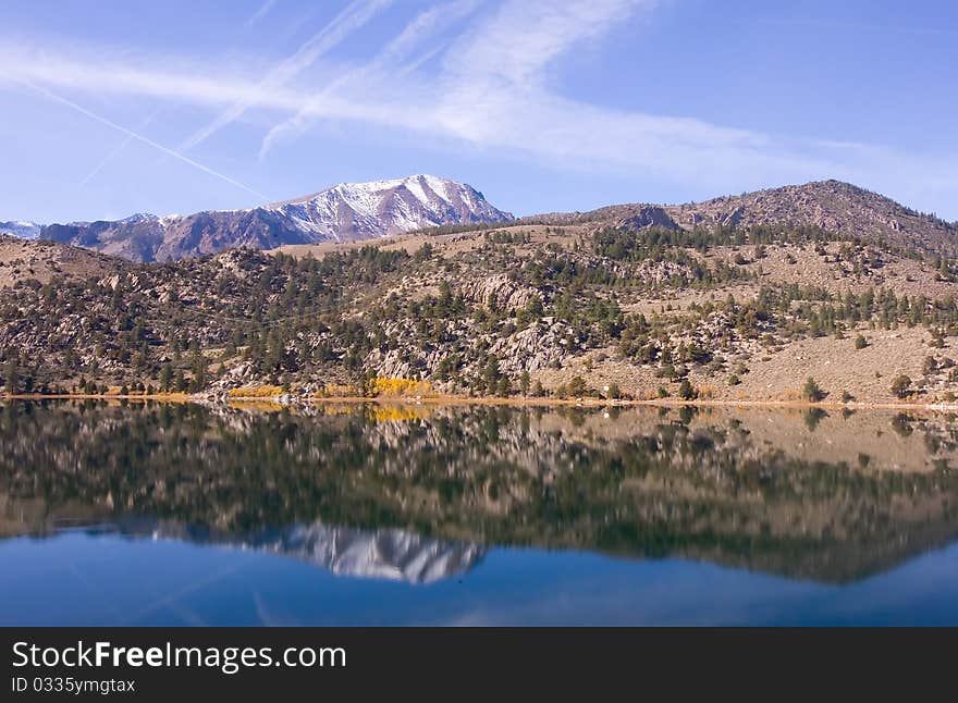
[[[500, 223], [513, 215], [472, 186], [430, 175], [344, 183], [312, 195], [248, 210], [207, 210], [157, 218], [21, 227], [34, 237], [96, 249], [133, 261], [169, 261], [240, 246], [373, 239], [435, 225]], [[9, 224], [9, 223], [8, 223]], [[32, 223], [13, 223], [32, 224]], [[12, 234], [19, 234], [11, 226]]]

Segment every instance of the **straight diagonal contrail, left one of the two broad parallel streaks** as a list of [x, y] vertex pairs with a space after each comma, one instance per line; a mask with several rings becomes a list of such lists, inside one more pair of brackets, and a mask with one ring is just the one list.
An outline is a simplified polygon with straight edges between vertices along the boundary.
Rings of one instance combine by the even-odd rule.
[[275, 65], [258, 84], [246, 90], [228, 110], [192, 134], [180, 145], [180, 149], [182, 151], [192, 149], [241, 118], [253, 106], [258, 102], [268, 102], [269, 94], [272, 90], [285, 86], [392, 2], [393, 0], [354, 0], [351, 2], [292, 55]]

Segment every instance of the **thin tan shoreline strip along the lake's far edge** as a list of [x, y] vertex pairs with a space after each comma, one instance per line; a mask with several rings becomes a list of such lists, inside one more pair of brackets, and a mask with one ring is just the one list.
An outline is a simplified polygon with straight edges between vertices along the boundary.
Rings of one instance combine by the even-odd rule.
[[244, 406], [251, 404], [269, 403], [279, 407], [294, 407], [297, 405], [320, 404], [379, 404], [379, 405], [502, 405], [517, 407], [744, 407], [744, 408], [798, 408], [823, 410], [920, 410], [937, 412], [958, 412], [958, 402], [955, 403], [889, 403], [889, 402], [862, 402], [830, 403], [808, 400], [749, 400], [749, 399], [722, 399], [704, 398], [683, 400], [680, 398], [648, 398], [635, 399], [605, 399], [605, 398], [541, 398], [541, 397], [470, 397], [459, 395], [432, 395], [432, 396], [293, 396], [292, 400], [279, 400], [277, 396], [245, 396], [245, 397], [210, 397], [209, 395], [191, 395], [187, 393], [157, 393], [152, 395], [142, 394], [39, 394], [19, 393], [2, 394], [2, 400], [127, 400], [146, 403], [196, 403], [196, 404], [222, 404], [228, 406]]

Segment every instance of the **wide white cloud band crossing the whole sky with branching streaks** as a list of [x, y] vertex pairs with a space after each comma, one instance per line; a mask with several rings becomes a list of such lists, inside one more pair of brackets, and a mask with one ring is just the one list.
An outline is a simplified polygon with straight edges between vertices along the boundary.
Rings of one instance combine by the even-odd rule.
[[[261, 156], [318, 121], [346, 121], [404, 130], [430, 144], [468, 144], [563, 168], [639, 171], [717, 192], [729, 184], [868, 175], [872, 187], [885, 178], [958, 196], [947, 155], [615, 110], [553, 88], [550, 72], [556, 61], [588, 49], [626, 20], [651, 21], [655, 0], [444, 0], [412, 16], [365, 61], [333, 64], [327, 54], [391, 2], [351, 2], [287, 59], [265, 72], [260, 67], [251, 81], [248, 71], [229, 74], [208, 67], [209, 62], [177, 66], [169, 58], [136, 61], [97, 48], [88, 58], [75, 50], [58, 55], [7, 42], [0, 85], [27, 81], [50, 90], [101, 99], [151, 97], [216, 113], [185, 148], [255, 110], [266, 125]], [[174, 155], [185, 159], [181, 151]]]

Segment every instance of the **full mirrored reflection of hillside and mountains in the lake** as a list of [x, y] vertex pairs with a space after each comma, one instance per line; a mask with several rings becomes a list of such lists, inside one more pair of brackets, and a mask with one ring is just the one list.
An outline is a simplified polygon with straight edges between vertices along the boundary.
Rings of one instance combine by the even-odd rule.
[[9, 403], [0, 538], [108, 526], [414, 583], [516, 546], [847, 583], [958, 535], [953, 419]]

